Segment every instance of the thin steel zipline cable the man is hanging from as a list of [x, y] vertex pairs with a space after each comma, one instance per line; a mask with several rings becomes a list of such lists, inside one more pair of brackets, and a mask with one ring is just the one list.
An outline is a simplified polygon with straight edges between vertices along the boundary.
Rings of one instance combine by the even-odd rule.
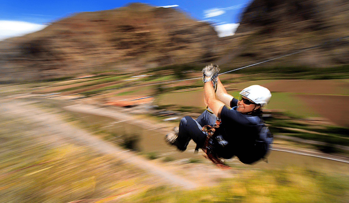
[[[266, 63], [266, 62], [273, 61], [273, 60], [276, 60], [276, 59], [279, 59], [279, 58], [283, 58], [283, 57], [286, 57], [286, 56], [291, 56], [291, 55], [294, 55], [294, 54], [306, 52], [307, 50], [314, 49], [314, 48], [317, 48], [317, 47], [321, 47], [321, 46], [324, 46], [324, 45], [327, 45], [327, 44], [333, 44], [333, 43], [336, 42], [336, 41], [339, 41], [339, 40], [342, 40], [342, 39], [346, 39], [346, 38], [349, 38], [349, 36], [345, 36], [345, 37], [340, 37], [340, 38], [337, 38], [337, 39], [328, 40], [328, 41], [325, 41], [325, 42], [323, 42], [323, 43], [321, 43], [321, 44], [319, 44], [319, 45], [316, 45], [316, 46], [311, 46], [311, 47], [306, 47], [306, 48], [303, 48], [303, 49], [299, 49], [299, 50], [297, 50], [297, 51], [295, 51], [295, 52], [292, 52], [292, 53], [289, 53], [289, 54], [279, 55], [279, 56], [276, 56], [276, 57], [274, 57], [274, 58], [270, 58], [270, 59], [267, 59], [267, 60], [264, 60], [264, 61], [260, 61], [260, 62], [257, 62], [257, 63], [253, 63], [253, 64], [250, 64], [250, 65], [246, 65], [246, 66], [244, 66], [244, 67], [240, 67], [240, 68], [237, 68], [237, 69], [233, 69], [233, 70], [229, 70], [229, 71], [226, 71], [226, 72], [222, 72], [222, 73], [219, 73], [218, 75], [222, 75], [222, 74], [225, 74], [225, 73], [229, 73], [229, 72], [241, 70], [241, 69], [248, 68], [248, 67], [251, 67], [251, 66], [254, 66], [254, 65], [258, 65], [258, 64], [261, 64], [261, 63]], [[176, 83], [176, 82], [180, 82], [180, 81], [195, 80], [195, 79], [201, 79], [201, 78], [202, 78], [202, 77], [189, 78], [189, 79], [181, 79], [181, 80], [171, 80], [171, 81], [164, 81], [164, 82], [151, 83], [151, 84], [125, 85], [125, 86], [122, 86], [122, 87], [116, 87], [116, 88], [110, 88], [110, 89], [102, 89], [102, 90], [89, 91], [89, 92], [81, 92], [81, 93], [72, 93], [72, 94], [65, 94], [65, 95], [57, 95], [57, 96], [44, 97], [44, 98], [38, 98], [38, 99], [49, 99], [49, 98], [60, 97], [60, 96], [69, 96], [69, 95], [77, 95], [77, 94], [95, 93], [95, 92], [102, 92], [102, 91], [108, 91], [108, 90], [121, 89], [121, 88], [126, 88], [126, 87], [137, 87], [137, 86], [146, 86], [146, 85], [158, 85], [158, 84], [166, 84], [166, 83]]]

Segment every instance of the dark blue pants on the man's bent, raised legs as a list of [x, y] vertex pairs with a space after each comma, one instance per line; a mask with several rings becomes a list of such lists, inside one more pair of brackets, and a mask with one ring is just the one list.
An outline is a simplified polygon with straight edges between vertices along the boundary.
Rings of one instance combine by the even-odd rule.
[[205, 125], [213, 126], [216, 120], [217, 117], [207, 110], [195, 120], [190, 116], [180, 119], [179, 134], [177, 137], [178, 149], [185, 150], [191, 139], [193, 139], [197, 147], [201, 148], [207, 137], [207, 132], [202, 131], [202, 127]]

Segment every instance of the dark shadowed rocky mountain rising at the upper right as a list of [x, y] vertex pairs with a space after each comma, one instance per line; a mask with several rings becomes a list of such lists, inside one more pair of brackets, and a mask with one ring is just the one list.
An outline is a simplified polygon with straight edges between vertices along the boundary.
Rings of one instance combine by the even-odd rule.
[[254, 0], [221, 63], [248, 64], [347, 37], [263, 65], [328, 67], [349, 63], [348, 0]]

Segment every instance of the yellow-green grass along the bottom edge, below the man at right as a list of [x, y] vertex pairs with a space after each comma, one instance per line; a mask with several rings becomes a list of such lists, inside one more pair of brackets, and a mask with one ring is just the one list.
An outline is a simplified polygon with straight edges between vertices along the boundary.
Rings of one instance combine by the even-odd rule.
[[[205, 177], [203, 177], [205, 178]], [[124, 202], [158, 203], [259, 203], [259, 202], [339, 202], [348, 200], [348, 178], [313, 170], [287, 167], [281, 170], [248, 171], [219, 186], [198, 190], [155, 187]]]

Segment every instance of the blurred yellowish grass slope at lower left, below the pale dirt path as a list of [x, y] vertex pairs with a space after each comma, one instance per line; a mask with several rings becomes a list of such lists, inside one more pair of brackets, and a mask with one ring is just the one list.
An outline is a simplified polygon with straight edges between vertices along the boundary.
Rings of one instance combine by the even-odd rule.
[[37, 127], [30, 120], [0, 116], [1, 202], [97, 201], [147, 180], [144, 172], [113, 156], [48, 141], [45, 136], [52, 132], [40, 133]]

